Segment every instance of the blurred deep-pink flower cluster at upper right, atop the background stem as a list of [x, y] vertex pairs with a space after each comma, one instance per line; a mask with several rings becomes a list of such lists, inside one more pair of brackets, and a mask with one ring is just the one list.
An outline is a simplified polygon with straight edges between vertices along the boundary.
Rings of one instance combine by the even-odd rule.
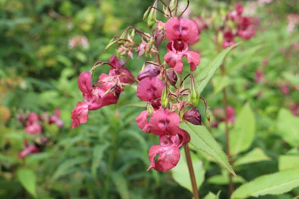
[[236, 3], [233, 11], [226, 15], [223, 30], [222, 47], [228, 48], [236, 43], [235, 37], [239, 36], [244, 40], [251, 39], [255, 35], [256, 23], [259, 21], [252, 17], [242, 16], [243, 6]]

